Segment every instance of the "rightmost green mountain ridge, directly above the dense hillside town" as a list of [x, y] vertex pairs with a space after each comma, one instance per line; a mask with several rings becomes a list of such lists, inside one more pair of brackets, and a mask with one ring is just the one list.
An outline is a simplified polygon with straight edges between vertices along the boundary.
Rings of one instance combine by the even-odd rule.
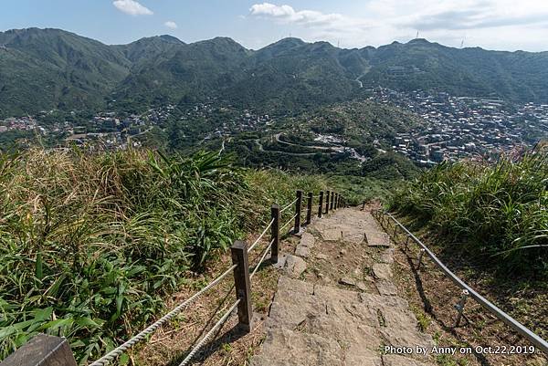
[[[548, 52], [452, 48], [414, 39], [369, 49], [371, 69], [361, 80], [391, 89], [431, 89], [454, 95], [514, 101], [548, 100]], [[403, 74], [390, 68], [405, 68]]]

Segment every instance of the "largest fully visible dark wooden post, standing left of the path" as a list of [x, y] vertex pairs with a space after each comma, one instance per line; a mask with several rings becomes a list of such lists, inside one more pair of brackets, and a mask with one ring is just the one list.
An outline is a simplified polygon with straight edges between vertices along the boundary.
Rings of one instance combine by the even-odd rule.
[[230, 248], [234, 268], [234, 283], [237, 304], [238, 326], [248, 333], [251, 331], [253, 310], [251, 308], [251, 282], [249, 281], [248, 243], [237, 240]]

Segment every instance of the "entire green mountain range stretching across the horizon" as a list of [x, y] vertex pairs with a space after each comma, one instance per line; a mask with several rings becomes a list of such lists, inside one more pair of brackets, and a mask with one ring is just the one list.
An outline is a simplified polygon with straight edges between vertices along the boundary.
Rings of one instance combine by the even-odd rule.
[[296, 110], [379, 85], [548, 102], [546, 79], [547, 52], [457, 49], [424, 39], [342, 49], [285, 38], [254, 51], [224, 37], [107, 46], [58, 29], [0, 32], [0, 116], [104, 108], [111, 100], [133, 110], [212, 98]]

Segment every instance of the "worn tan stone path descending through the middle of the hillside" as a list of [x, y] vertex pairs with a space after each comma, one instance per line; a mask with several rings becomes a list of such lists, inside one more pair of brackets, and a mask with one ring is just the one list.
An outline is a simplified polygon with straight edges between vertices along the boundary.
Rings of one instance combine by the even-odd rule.
[[267, 336], [251, 365], [434, 364], [416, 353], [385, 352], [434, 345], [397, 296], [393, 254], [369, 212], [344, 209], [313, 222], [286, 256]]

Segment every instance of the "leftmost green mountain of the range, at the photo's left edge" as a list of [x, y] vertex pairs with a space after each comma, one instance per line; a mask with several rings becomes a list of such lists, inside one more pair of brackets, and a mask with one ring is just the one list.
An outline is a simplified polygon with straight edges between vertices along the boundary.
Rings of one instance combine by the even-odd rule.
[[99, 107], [131, 65], [113, 47], [58, 29], [0, 33], [0, 115]]

